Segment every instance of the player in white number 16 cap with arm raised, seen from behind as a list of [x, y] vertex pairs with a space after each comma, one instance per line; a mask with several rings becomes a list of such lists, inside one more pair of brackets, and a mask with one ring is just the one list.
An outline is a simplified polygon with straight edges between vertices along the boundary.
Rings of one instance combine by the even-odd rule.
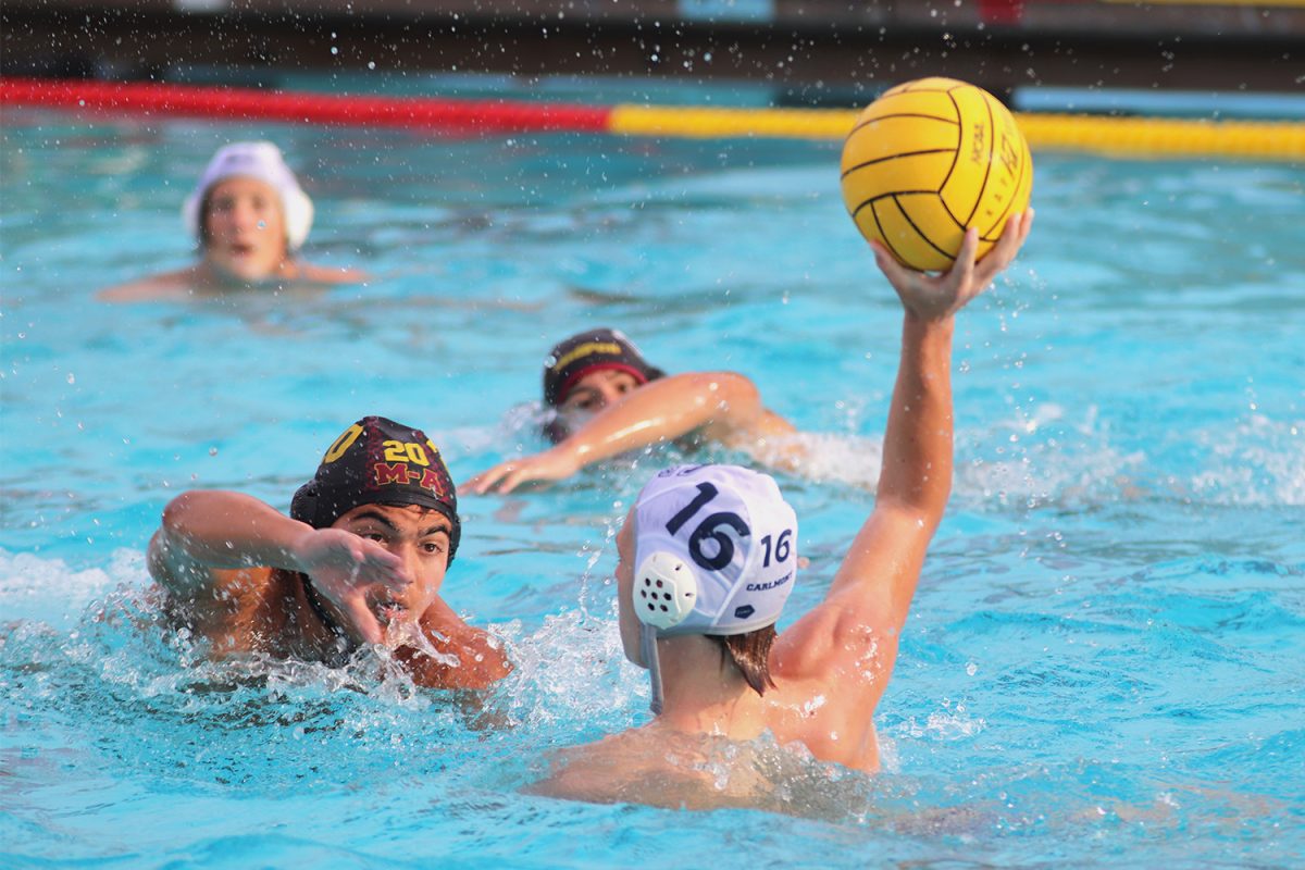
[[873, 712], [951, 490], [954, 314], [1011, 262], [1031, 220], [1031, 211], [1011, 217], [979, 263], [971, 230], [946, 275], [910, 271], [872, 243], [906, 309], [878, 493], [825, 600], [783, 634], [775, 622], [796, 583], [797, 519], [774, 480], [735, 466], [686, 466], [643, 487], [616, 539], [616, 586], [621, 643], [649, 669], [656, 716], [570, 750], [534, 790], [746, 803], [757, 777], [676, 763], [701, 758], [686, 736], [753, 741], [769, 732], [820, 760], [878, 768]]

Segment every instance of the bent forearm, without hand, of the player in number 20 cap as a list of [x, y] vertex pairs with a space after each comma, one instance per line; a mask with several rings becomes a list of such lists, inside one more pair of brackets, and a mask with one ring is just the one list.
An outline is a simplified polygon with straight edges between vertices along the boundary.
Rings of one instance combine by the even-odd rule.
[[251, 496], [194, 490], [168, 503], [162, 531], [164, 547], [205, 567], [300, 570], [295, 544], [312, 527]]

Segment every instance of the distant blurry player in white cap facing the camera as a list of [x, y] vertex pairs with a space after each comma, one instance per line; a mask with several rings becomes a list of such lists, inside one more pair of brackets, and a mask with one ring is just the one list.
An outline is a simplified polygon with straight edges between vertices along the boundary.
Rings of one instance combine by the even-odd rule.
[[271, 142], [235, 142], [209, 160], [181, 209], [200, 262], [100, 293], [130, 301], [241, 287], [338, 284], [360, 280], [298, 256], [313, 223], [313, 203]]

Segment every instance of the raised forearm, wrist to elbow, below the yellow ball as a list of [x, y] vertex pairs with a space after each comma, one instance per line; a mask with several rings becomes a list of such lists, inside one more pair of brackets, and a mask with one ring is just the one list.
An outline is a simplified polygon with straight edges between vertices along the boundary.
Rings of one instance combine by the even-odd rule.
[[904, 316], [878, 485], [881, 502], [924, 513], [934, 524], [951, 494], [953, 330], [950, 316]]

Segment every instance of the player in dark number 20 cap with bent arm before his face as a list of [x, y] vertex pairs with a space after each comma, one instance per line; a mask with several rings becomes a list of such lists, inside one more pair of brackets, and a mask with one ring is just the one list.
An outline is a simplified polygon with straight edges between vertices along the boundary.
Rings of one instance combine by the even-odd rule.
[[461, 531], [438, 449], [365, 417], [331, 443], [290, 517], [235, 492], [174, 498], [149, 570], [175, 622], [217, 656], [335, 663], [384, 644], [419, 685], [480, 689], [510, 665], [440, 597]]

